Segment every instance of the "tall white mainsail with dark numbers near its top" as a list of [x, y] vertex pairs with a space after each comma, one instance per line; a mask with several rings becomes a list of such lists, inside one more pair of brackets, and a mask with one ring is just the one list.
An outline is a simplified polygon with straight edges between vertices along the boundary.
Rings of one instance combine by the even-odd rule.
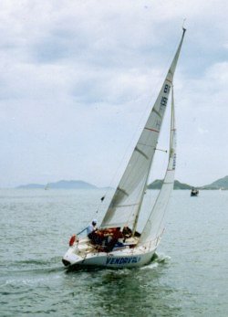
[[122, 175], [115, 194], [100, 227], [124, 227], [135, 230], [140, 206], [147, 187], [150, 166], [158, 143], [164, 112], [169, 99], [172, 79], [181, 51], [184, 37], [183, 29], [181, 42], [171, 62], [171, 67], [154, 103], [140, 139], [130, 157], [130, 162]]

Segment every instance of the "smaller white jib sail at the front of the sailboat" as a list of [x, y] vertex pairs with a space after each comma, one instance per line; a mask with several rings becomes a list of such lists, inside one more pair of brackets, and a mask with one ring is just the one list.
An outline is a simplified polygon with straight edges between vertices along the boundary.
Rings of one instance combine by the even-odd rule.
[[166, 170], [166, 174], [161, 186], [160, 194], [152, 208], [150, 217], [142, 230], [140, 236], [140, 244], [145, 242], [155, 241], [161, 237], [164, 230], [164, 214], [165, 209], [171, 195], [171, 191], [174, 183], [175, 165], [176, 165], [176, 131], [175, 131], [175, 119], [174, 119], [174, 99], [173, 91], [171, 98], [171, 143], [170, 143], [170, 157]]

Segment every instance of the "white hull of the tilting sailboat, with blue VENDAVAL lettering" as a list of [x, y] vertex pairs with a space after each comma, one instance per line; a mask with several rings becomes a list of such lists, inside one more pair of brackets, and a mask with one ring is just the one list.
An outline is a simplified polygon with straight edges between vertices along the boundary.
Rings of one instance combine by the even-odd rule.
[[157, 246], [136, 246], [134, 248], [119, 248], [111, 252], [98, 251], [88, 245], [88, 240], [83, 239], [68, 248], [63, 257], [67, 268], [137, 268], [150, 263]]

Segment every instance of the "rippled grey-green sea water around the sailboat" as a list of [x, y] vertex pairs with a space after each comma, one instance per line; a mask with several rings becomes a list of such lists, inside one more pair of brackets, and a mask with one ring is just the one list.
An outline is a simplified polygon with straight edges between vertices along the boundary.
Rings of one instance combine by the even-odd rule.
[[174, 191], [148, 266], [69, 272], [61, 263], [68, 239], [101, 220], [102, 195], [0, 191], [1, 317], [228, 316], [228, 191]]

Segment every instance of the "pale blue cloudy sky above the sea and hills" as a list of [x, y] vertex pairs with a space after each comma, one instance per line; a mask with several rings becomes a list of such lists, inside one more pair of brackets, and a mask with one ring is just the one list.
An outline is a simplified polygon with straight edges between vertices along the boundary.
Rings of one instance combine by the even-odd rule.
[[2, 0], [0, 187], [62, 179], [115, 185], [183, 19], [176, 179], [206, 185], [227, 175], [227, 12], [223, 0]]

